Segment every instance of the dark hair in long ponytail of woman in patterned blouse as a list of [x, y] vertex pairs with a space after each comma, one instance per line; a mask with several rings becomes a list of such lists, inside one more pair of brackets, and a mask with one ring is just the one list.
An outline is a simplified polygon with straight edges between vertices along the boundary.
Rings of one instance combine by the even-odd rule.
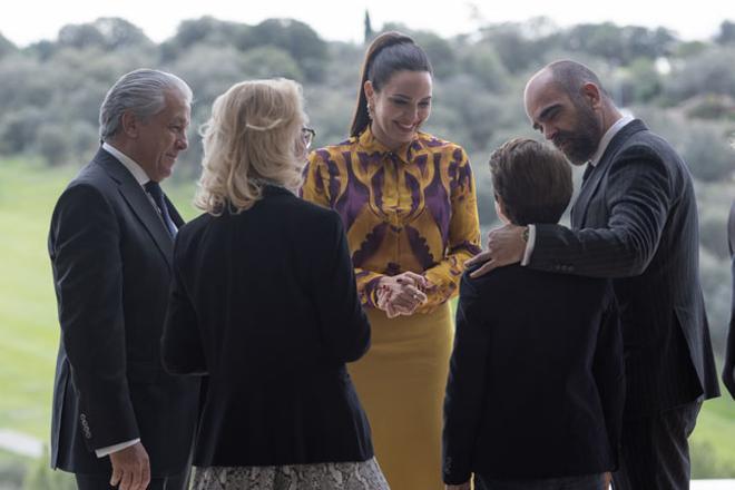
[[370, 80], [375, 91], [380, 91], [383, 85], [401, 70], [433, 74], [429, 57], [411, 37], [390, 31], [373, 39], [362, 62], [357, 105], [354, 116], [352, 116], [350, 136], [360, 135], [370, 125], [365, 81]]

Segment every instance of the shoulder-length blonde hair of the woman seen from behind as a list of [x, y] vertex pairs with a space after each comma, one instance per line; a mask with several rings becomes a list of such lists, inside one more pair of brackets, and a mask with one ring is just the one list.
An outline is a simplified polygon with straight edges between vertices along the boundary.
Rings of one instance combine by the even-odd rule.
[[231, 87], [202, 126], [203, 170], [194, 205], [215, 216], [225, 206], [237, 214], [263, 197], [267, 183], [296, 192], [306, 164], [296, 145], [304, 122], [302, 88], [293, 80]]

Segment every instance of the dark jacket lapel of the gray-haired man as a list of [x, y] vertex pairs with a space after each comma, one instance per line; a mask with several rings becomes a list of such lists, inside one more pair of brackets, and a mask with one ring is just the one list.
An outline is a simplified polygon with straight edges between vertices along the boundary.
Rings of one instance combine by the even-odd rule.
[[[100, 149], [95, 156], [95, 161], [101, 165], [107, 173], [117, 182], [118, 190], [127, 202], [133, 213], [140, 219], [143, 226], [148, 231], [154, 243], [160, 251], [166, 263], [171, 265], [171, 255], [174, 253], [174, 241], [165, 228], [158, 213], [146, 196], [146, 192], [140, 184], [133, 177], [127, 168], [120, 164], [117, 158]], [[173, 206], [170, 206], [173, 208]], [[178, 216], [178, 213], [176, 213]], [[180, 217], [179, 217], [180, 219]]]

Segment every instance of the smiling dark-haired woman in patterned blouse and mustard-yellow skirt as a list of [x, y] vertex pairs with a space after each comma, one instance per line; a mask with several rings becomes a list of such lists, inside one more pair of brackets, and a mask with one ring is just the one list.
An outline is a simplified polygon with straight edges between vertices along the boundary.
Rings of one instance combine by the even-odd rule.
[[393, 490], [443, 489], [448, 300], [464, 261], [480, 251], [467, 154], [420, 131], [431, 92], [421, 47], [399, 32], [378, 37], [363, 62], [351, 137], [311, 154], [302, 188], [345, 225], [372, 325], [372, 347], [350, 374]]

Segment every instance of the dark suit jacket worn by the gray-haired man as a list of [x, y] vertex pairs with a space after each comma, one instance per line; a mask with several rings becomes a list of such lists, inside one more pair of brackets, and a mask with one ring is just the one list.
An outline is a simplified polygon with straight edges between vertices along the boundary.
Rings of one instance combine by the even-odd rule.
[[154, 477], [185, 470], [199, 389], [160, 361], [173, 246], [145, 190], [104, 149], [59, 197], [49, 235], [61, 324], [53, 468], [109, 474], [94, 450], [140, 438]]

